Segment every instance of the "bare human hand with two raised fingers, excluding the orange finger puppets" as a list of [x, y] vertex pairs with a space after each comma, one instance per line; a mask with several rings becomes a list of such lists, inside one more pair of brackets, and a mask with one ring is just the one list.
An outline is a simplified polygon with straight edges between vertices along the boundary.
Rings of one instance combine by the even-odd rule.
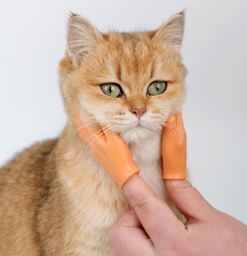
[[135, 210], [109, 229], [112, 256], [246, 256], [247, 226], [214, 209], [187, 180], [165, 180], [185, 224], [139, 176], [123, 186]]

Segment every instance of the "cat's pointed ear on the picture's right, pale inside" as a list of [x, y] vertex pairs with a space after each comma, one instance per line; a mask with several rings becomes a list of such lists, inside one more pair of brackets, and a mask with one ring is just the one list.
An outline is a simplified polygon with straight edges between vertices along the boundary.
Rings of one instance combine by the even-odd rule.
[[163, 41], [171, 49], [180, 53], [185, 29], [185, 11], [171, 17], [160, 29], [154, 38]]

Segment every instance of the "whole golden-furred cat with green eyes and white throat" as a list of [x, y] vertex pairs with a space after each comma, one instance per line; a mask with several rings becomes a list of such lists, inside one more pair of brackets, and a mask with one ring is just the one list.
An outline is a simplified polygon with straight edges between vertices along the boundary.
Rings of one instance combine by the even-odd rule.
[[103, 34], [71, 14], [59, 66], [68, 123], [58, 139], [36, 143], [1, 168], [0, 255], [111, 255], [107, 230], [132, 207], [80, 139], [72, 106], [86, 125], [102, 122], [123, 137], [140, 175], [184, 221], [166, 193], [161, 157], [165, 120], [186, 97], [184, 25], [180, 12], [157, 30]]

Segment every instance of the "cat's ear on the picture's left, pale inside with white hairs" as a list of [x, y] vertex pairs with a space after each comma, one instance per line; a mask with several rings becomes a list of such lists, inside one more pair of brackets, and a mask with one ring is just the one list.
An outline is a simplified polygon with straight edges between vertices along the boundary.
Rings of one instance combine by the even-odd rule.
[[72, 14], [67, 27], [67, 49], [73, 65], [78, 67], [102, 34], [86, 18]]

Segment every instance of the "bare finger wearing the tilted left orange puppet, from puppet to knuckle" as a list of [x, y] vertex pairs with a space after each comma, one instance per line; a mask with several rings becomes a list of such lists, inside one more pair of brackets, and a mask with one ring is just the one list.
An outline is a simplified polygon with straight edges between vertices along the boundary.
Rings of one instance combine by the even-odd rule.
[[185, 229], [169, 206], [138, 174], [128, 179], [123, 190], [154, 245], [159, 244], [161, 237], [164, 241], [172, 241], [174, 236], [171, 233], [177, 234]]

